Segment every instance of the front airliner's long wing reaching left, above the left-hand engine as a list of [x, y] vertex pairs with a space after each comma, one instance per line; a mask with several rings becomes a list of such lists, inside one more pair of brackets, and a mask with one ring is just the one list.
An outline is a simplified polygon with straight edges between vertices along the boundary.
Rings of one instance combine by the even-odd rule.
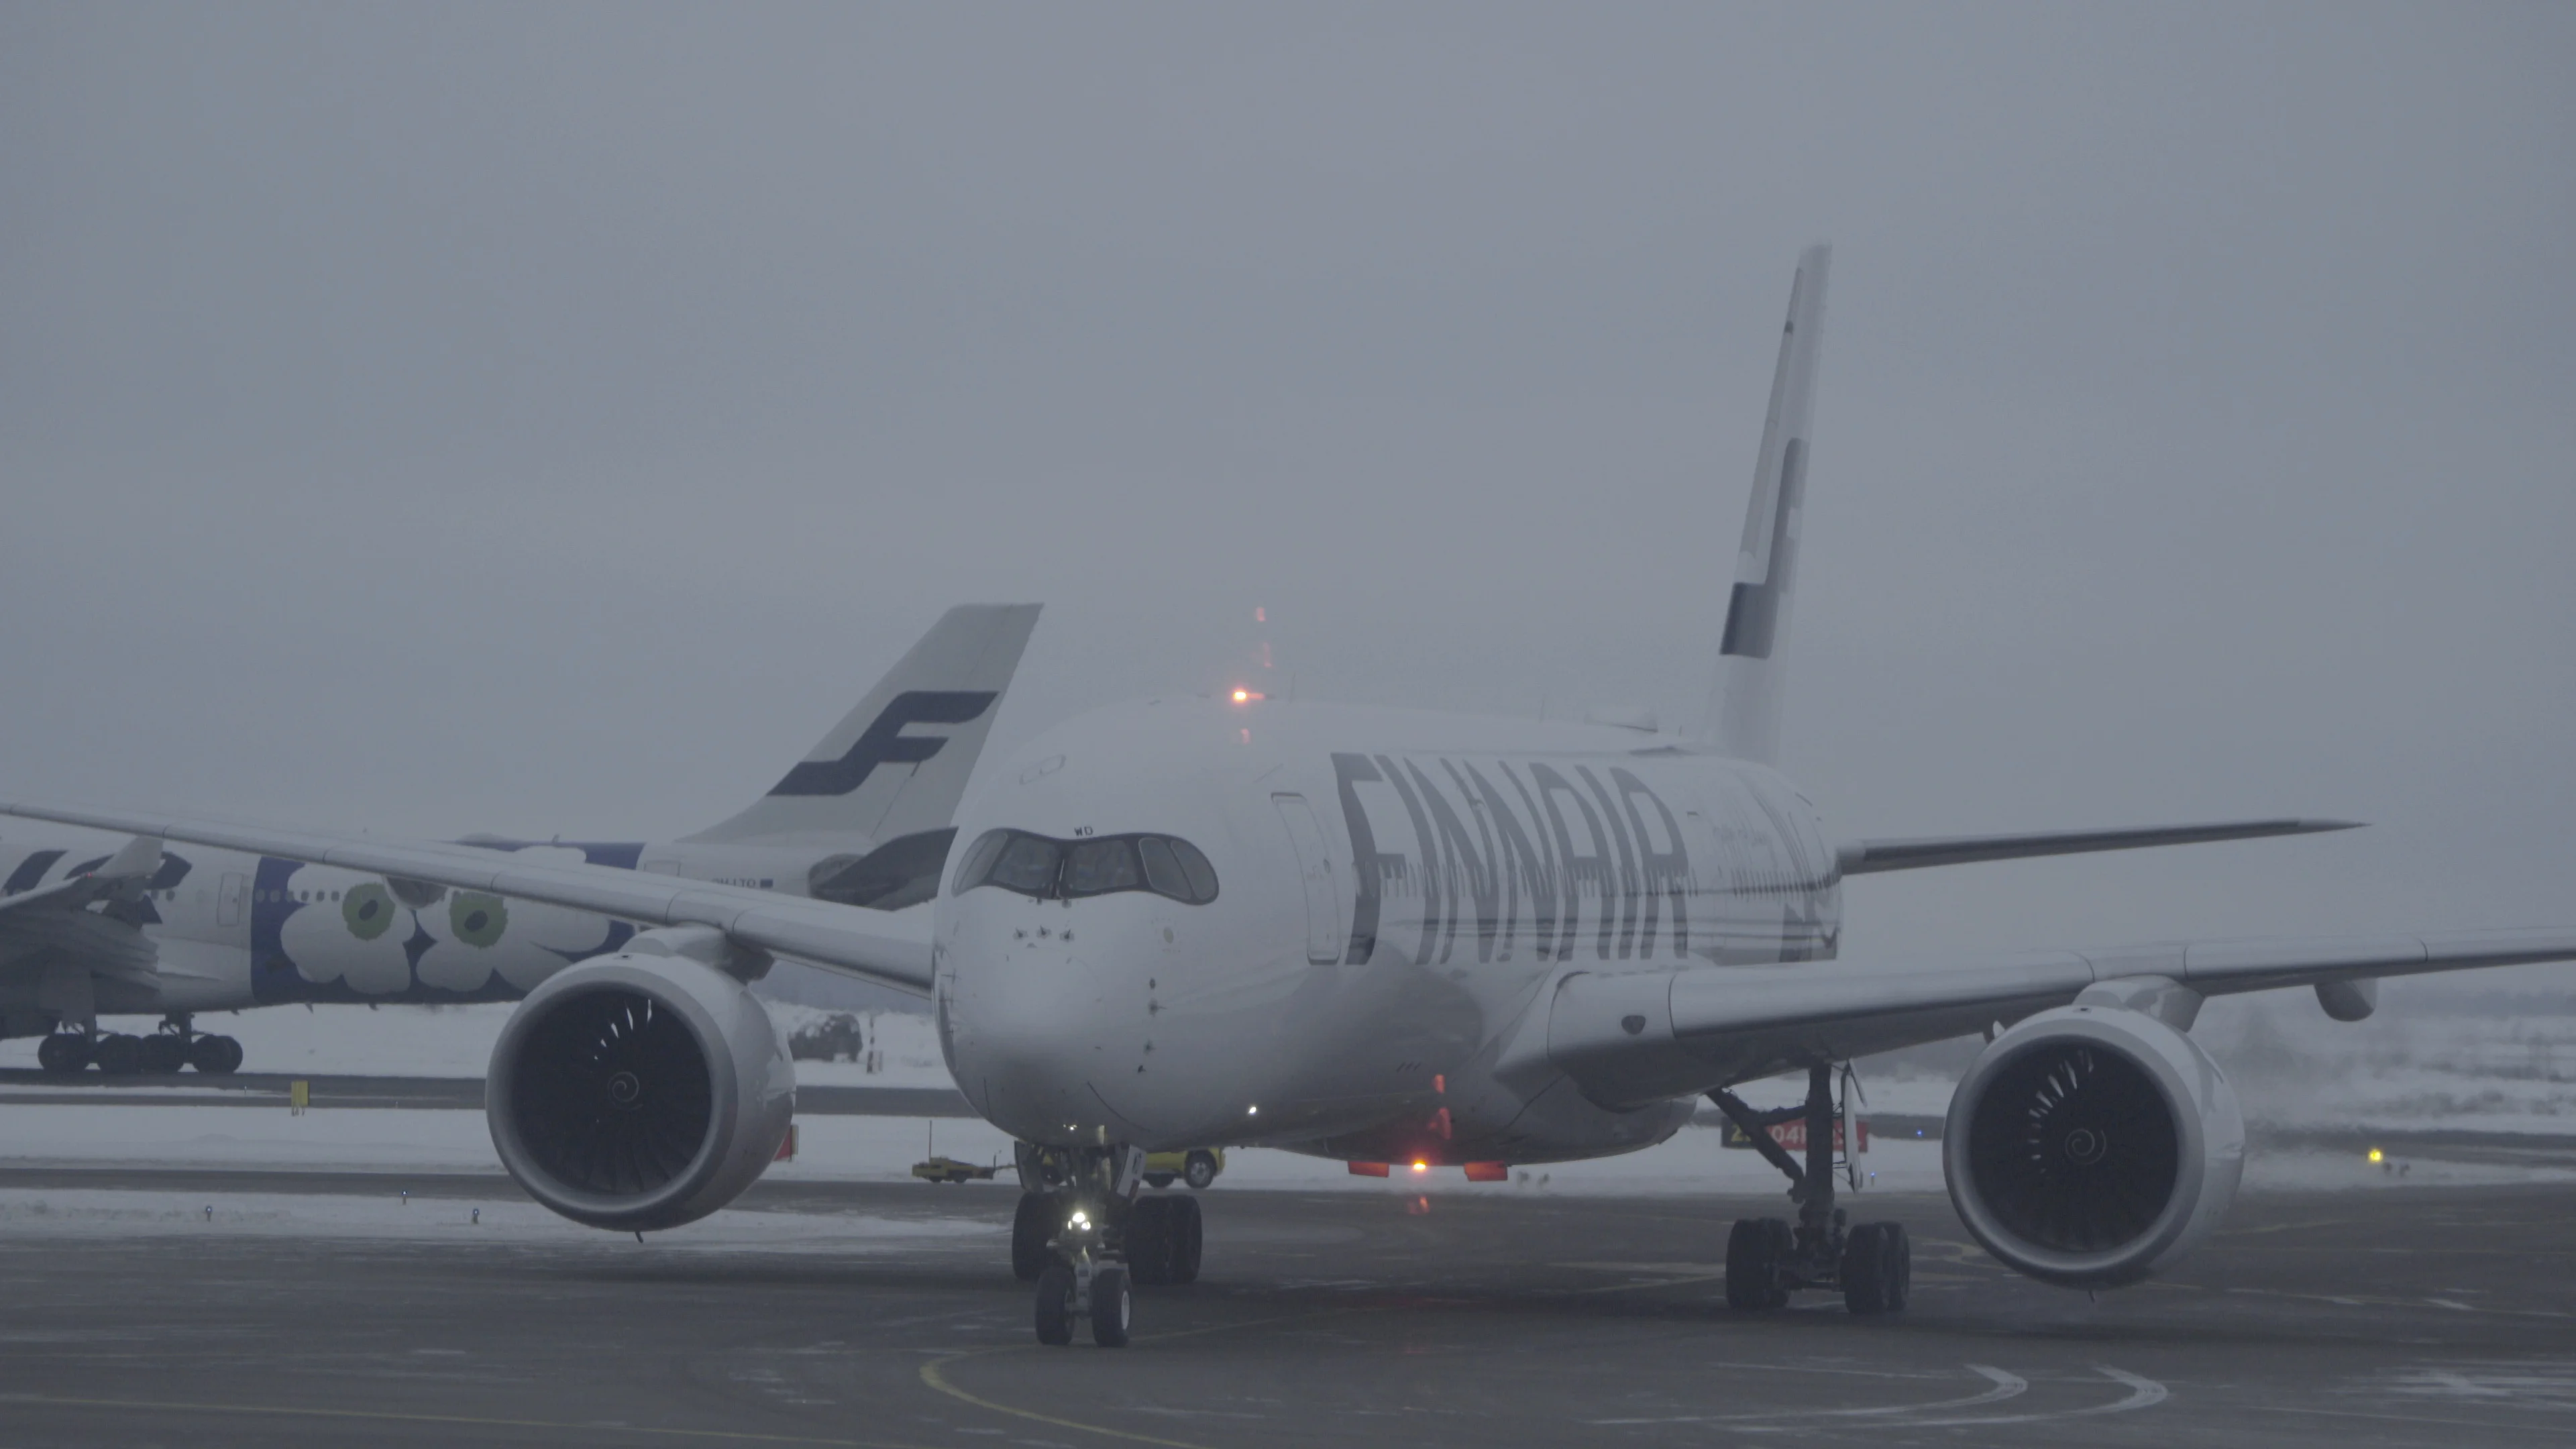
[[649, 871], [523, 861], [510, 853], [435, 841], [379, 841], [237, 820], [170, 820], [31, 802], [0, 802], [0, 815], [121, 830], [149, 838], [155, 853], [160, 841], [185, 841], [219, 851], [252, 851], [317, 866], [422, 879], [451, 890], [487, 890], [649, 926], [714, 926], [744, 946], [930, 995], [930, 926], [904, 915]]

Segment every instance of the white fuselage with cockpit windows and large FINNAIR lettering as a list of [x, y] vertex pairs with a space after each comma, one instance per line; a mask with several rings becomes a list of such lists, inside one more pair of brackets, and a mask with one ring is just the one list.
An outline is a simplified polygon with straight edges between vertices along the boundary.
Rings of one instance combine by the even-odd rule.
[[1669, 735], [1167, 696], [987, 779], [935, 931], [951, 1070], [1030, 1142], [1530, 1163], [1690, 1116], [1497, 1073], [1556, 980], [1832, 957], [1839, 877], [1785, 779]]

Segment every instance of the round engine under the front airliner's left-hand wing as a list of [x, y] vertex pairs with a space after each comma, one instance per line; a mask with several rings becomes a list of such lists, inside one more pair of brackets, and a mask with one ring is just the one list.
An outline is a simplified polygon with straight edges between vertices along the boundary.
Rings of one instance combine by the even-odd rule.
[[492, 1044], [484, 1101], [492, 1147], [528, 1196], [647, 1232], [760, 1178], [796, 1114], [796, 1065], [742, 982], [629, 949], [528, 993]]

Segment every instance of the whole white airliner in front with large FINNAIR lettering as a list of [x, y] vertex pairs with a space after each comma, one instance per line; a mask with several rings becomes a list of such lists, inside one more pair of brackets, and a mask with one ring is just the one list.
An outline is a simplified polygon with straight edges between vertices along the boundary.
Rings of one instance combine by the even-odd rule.
[[[1710, 1096], [1788, 1173], [1795, 1222], [1726, 1245], [1739, 1310], [1839, 1289], [1904, 1307], [1901, 1225], [1834, 1204], [1834, 1067], [1986, 1031], [1942, 1142], [1960, 1220], [2069, 1287], [2138, 1281], [2208, 1238], [2244, 1119], [2190, 1039], [2202, 998], [2576, 959], [2576, 928], [2164, 941], [1834, 959], [1842, 877], [2331, 830], [2326, 820], [1837, 841], [1772, 768], [1826, 253], [1801, 258], [1705, 722], [1682, 735], [1260, 699], [1146, 699], [992, 771], [907, 918], [577, 861], [36, 804], [15, 815], [263, 851], [355, 877], [652, 928], [528, 993], [487, 1078], [492, 1142], [546, 1207], [690, 1222], [768, 1165], [793, 1073], [744, 993], [796, 957], [935, 1000], [966, 1098], [1020, 1140], [1012, 1263], [1038, 1338], [1123, 1343], [1131, 1284], [1193, 1279], [1190, 1199], [1146, 1150], [1273, 1145], [1355, 1165], [1631, 1152]], [[1638, 724], [1638, 727], [1631, 727]], [[1793, 1114], [1731, 1088], [1806, 1070]], [[1798, 1116], [1806, 1160], [1770, 1127]]]

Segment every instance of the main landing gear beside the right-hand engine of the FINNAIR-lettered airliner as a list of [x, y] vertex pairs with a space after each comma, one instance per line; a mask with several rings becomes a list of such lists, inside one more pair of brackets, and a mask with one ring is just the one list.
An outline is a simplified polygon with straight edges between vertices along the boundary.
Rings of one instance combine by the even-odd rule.
[[[1904, 1222], [1862, 1222], [1844, 1227], [1834, 1207], [1834, 1067], [1806, 1070], [1806, 1104], [1780, 1111], [1754, 1111], [1731, 1091], [1708, 1101], [1728, 1116], [1752, 1145], [1788, 1173], [1798, 1225], [1777, 1217], [1736, 1220], [1726, 1235], [1726, 1307], [1788, 1307], [1795, 1289], [1842, 1289], [1852, 1312], [1896, 1312], [1914, 1292], [1914, 1245]], [[1783, 1122], [1806, 1122], [1806, 1165], [1772, 1140]]]

